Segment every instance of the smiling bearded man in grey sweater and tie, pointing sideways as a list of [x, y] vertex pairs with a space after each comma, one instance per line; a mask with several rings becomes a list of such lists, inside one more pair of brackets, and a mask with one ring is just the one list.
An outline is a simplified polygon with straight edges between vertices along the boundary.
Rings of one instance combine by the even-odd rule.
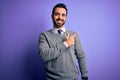
[[64, 26], [67, 13], [66, 5], [55, 5], [51, 15], [53, 28], [39, 36], [39, 53], [45, 64], [47, 80], [78, 80], [79, 69], [82, 80], [88, 80], [86, 58], [78, 34]]

